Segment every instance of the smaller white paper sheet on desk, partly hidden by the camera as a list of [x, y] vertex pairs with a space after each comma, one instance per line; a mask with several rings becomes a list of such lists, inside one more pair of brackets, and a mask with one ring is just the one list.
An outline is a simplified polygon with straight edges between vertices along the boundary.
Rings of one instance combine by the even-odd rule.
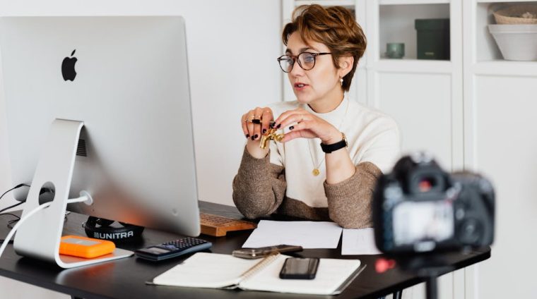
[[373, 228], [343, 229], [341, 255], [379, 255], [374, 245]]

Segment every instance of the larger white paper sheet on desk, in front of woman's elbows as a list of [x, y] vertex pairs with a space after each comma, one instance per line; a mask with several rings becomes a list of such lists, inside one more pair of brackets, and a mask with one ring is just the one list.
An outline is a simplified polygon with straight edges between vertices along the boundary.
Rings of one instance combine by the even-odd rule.
[[242, 248], [300, 245], [302, 248], [337, 248], [342, 228], [327, 221], [261, 220]]

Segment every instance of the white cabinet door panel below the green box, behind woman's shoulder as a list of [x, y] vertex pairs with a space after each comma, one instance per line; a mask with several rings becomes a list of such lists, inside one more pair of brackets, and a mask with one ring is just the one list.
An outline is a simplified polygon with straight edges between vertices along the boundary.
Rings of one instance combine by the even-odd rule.
[[402, 152], [426, 150], [451, 169], [451, 75], [377, 72], [374, 80], [376, 106], [399, 124]]

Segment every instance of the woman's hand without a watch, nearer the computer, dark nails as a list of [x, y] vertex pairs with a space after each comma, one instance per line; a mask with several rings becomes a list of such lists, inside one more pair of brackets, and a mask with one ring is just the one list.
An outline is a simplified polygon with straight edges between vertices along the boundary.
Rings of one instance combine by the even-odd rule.
[[252, 157], [261, 159], [268, 153], [268, 147], [261, 149], [259, 140], [261, 135], [266, 134], [270, 129], [270, 123], [274, 120], [272, 110], [268, 107], [256, 107], [242, 115], [242, 132], [248, 142], [246, 149]]

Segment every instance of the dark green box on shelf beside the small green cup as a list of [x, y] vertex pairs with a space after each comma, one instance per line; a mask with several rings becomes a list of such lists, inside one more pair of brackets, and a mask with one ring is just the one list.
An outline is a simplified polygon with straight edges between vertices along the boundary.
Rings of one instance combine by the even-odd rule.
[[449, 19], [416, 19], [418, 59], [449, 60]]

